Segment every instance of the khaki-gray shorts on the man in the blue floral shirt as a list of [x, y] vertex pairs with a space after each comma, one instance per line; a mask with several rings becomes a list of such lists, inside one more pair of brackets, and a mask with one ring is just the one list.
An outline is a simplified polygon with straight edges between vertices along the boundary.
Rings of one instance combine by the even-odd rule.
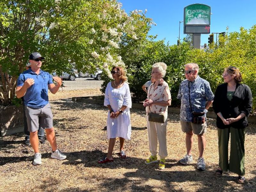
[[181, 130], [184, 133], [193, 131], [194, 134], [200, 135], [206, 132], [206, 122], [204, 124], [194, 124], [192, 122], [180, 121]]

